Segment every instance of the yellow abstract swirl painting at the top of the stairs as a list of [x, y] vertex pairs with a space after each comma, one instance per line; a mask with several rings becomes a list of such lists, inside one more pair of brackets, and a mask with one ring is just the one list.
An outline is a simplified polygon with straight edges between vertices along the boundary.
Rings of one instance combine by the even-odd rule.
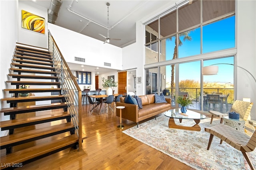
[[45, 33], [45, 20], [44, 18], [32, 14], [30, 12], [21, 10], [21, 27], [36, 31], [38, 33]]

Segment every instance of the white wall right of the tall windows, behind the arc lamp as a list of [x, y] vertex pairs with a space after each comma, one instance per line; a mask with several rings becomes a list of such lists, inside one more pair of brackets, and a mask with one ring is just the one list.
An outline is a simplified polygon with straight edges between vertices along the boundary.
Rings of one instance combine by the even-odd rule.
[[[236, 64], [256, 77], [256, 1], [237, 1], [237, 57]], [[250, 98], [254, 103], [251, 118], [256, 120], [256, 82], [252, 76], [237, 68], [237, 100]]]

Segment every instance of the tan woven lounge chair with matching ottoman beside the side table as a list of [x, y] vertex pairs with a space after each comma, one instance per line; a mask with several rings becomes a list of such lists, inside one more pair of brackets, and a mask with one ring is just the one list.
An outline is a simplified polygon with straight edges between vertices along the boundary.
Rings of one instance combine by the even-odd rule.
[[[251, 109], [252, 109], [252, 102], [244, 102], [241, 100], [236, 100], [231, 109], [230, 112], [234, 111], [236, 113], [239, 113], [240, 118], [244, 119], [245, 121], [247, 121], [250, 113], [251, 113]], [[212, 120], [215, 117], [220, 117], [220, 123], [223, 122], [223, 117], [224, 116], [228, 116], [228, 113], [220, 113], [218, 111], [212, 111], [210, 110], [209, 113], [212, 115], [211, 121], [210, 123], [212, 124]]]

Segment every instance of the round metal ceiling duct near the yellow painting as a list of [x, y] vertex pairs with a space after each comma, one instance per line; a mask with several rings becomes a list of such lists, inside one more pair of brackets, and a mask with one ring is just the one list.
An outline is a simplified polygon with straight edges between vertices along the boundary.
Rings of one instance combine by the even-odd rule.
[[48, 22], [56, 23], [61, 4], [62, 0], [52, 0], [50, 9], [48, 10]]

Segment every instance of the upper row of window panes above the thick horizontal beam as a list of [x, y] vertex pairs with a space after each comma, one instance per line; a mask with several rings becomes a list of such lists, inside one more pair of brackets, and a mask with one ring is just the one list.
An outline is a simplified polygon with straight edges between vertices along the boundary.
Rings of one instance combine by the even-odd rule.
[[234, 0], [193, 0], [147, 23], [145, 64], [234, 48], [234, 4]]

